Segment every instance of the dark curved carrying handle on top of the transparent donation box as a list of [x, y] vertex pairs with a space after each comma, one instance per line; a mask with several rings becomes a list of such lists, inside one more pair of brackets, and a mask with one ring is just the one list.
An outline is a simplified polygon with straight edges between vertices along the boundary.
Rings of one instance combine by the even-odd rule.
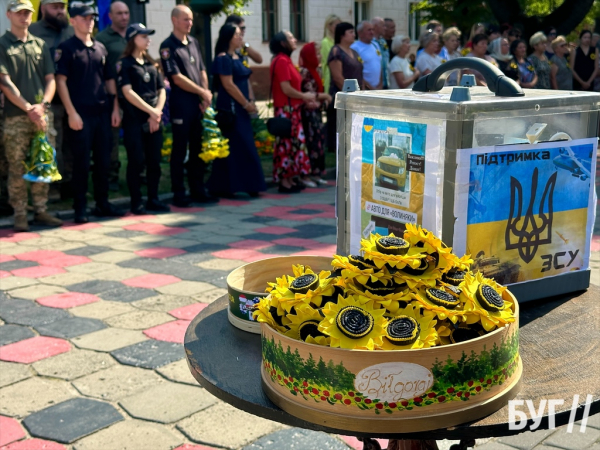
[[456, 69], [476, 70], [483, 77], [488, 89], [496, 93], [497, 97], [523, 97], [525, 93], [521, 86], [502, 73], [493, 64], [480, 58], [457, 58], [447, 61], [433, 72], [419, 80], [413, 86], [415, 92], [437, 92], [444, 87], [450, 72]]

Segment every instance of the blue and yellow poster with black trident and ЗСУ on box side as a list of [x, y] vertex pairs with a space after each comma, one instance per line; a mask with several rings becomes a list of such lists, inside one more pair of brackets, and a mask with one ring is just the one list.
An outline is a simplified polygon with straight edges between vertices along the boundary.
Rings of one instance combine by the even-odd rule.
[[597, 139], [459, 150], [456, 252], [502, 284], [589, 267]]

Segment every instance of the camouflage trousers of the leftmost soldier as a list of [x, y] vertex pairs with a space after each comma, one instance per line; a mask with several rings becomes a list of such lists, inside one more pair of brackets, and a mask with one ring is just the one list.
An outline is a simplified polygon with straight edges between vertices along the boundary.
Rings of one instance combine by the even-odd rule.
[[[54, 117], [48, 112], [49, 124]], [[50, 125], [52, 126], [52, 125]], [[26, 158], [31, 140], [37, 134], [35, 124], [27, 116], [4, 118], [4, 151], [8, 160], [8, 201], [15, 216], [27, 214], [27, 183], [23, 179]], [[53, 133], [48, 133], [48, 142], [54, 147]], [[48, 183], [30, 183], [33, 209], [36, 213], [46, 211], [48, 202]]]

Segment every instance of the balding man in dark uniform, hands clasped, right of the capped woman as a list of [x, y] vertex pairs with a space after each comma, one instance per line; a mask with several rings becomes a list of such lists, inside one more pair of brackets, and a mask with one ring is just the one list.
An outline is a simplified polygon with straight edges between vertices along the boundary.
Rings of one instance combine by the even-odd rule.
[[[218, 199], [206, 194], [204, 173], [206, 164], [198, 156], [202, 150], [202, 116], [210, 106], [212, 93], [208, 89], [206, 69], [198, 41], [189, 35], [192, 11], [177, 5], [171, 12], [173, 32], [160, 44], [163, 72], [169, 78], [169, 98], [173, 147], [171, 150], [171, 189], [173, 204], [187, 207], [190, 203], [214, 203]], [[184, 161], [189, 144], [187, 178], [190, 196], [185, 194]]]

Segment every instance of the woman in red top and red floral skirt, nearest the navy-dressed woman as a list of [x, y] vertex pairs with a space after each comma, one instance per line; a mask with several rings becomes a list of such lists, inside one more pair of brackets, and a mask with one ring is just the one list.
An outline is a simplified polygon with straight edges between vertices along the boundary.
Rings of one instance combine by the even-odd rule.
[[290, 55], [296, 49], [296, 38], [289, 31], [281, 31], [271, 39], [271, 83], [275, 117], [292, 121], [292, 136], [275, 138], [273, 148], [273, 180], [279, 183], [279, 192], [296, 193], [308, 180], [310, 159], [302, 126], [302, 105], [316, 99], [313, 92], [302, 92], [302, 77]]

